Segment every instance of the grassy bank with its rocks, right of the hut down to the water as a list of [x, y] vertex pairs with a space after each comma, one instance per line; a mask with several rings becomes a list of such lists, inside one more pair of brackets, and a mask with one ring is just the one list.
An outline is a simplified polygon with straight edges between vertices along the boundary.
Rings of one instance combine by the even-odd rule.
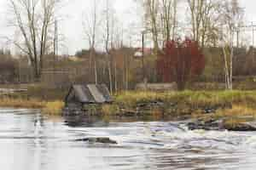
[[224, 119], [229, 126], [256, 119], [256, 91], [124, 92], [105, 115], [151, 115], [195, 119]]

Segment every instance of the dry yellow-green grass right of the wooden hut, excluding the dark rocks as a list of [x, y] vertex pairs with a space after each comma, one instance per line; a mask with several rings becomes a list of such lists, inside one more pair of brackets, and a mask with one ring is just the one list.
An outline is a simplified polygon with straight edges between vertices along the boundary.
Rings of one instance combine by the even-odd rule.
[[[209, 118], [204, 114], [204, 108], [230, 108], [219, 110], [214, 118], [232, 116], [254, 116], [256, 114], [256, 91], [183, 91], [183, 92], [147, 92], [128, 91], [115, 95], [114, 104], [104, 106], [103, 113], [108, 115], [119, 112], [119, 107], [126, 110], [136, 110], [138, 104], [159, 100], [163, 102], [164, 113], [173, 114], [169, 111], [170, 104], [177, 104], [176, 112], [192, 116]], [[188, 110], [188, 111], [187, 111]], [[175, 112], [175, 111], [174, 111]]]

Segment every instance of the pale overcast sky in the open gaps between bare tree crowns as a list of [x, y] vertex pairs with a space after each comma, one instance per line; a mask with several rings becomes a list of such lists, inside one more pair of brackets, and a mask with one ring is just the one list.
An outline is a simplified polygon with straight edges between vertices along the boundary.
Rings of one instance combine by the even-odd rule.
[[[6, 10], [7, 1], [0, 0], [0, 37], [13, 34], [7, 27]], [[104, 2], [104, 0], [102, 0]], [[134, 0], [113, 0], [114, 8], [119, 20], [124, 23], [125, 31], [131, 29], [129, 26], [133, 22], [140, 20], [137, 5]], [[256, 23], [256, 1], [255, 0], [240, 0], [241, 6], [245, 8], [247, 22], [254, 21]], [[69, 0], [69, 3], [64, 8], [61, 8], [63, 20], [59, 23], [60, 33], [65, 36], [65, 48], [61, 48], [61, 52], [65, 54], [74, 54], [81, 48], [88, 48], [87, 42], [83, 35], [82, 16], [86, 13], [86, 9], [90, 8], [90, 0]], [[3, 47], [3, 40], [0, 40], [0, 48]]]

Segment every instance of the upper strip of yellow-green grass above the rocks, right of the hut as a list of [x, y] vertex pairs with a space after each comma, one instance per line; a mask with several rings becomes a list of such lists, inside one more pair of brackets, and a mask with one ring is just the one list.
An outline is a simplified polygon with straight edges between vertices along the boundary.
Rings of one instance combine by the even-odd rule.
[[155, 101], [166, 106], [188, 106], [193, 110], [203, 107], [226, 108], [231, 105], [254, 107], [256, 91], [124, 92], [115, 95], [113, 105], [105, 106], [104, 111], [115, 112], [119, 111], [120, 107], [136, 109], [138, 105], [147, 105]]

